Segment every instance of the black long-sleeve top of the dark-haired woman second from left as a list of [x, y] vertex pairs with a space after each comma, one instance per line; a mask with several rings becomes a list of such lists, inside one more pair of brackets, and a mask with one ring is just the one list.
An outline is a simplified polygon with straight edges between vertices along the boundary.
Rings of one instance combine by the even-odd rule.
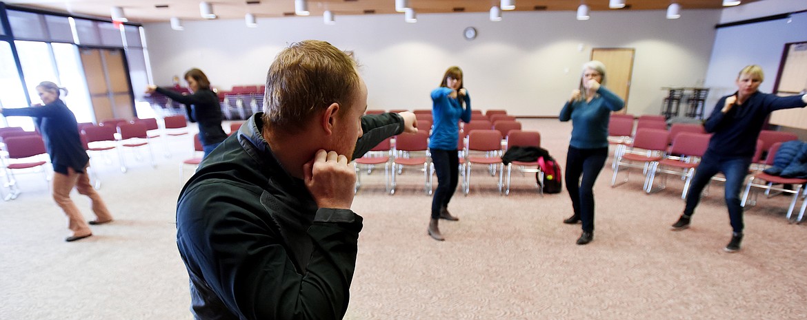
[[227, 133], [221, 127], [221, 105], [215, 92], [199, 89], [193, 94], [184, 95], [161, 87], [157, 87], [157, 92], [185, 105], [190, 122], [199, 123], [199, 140], [202, 144], [220, 143], [227, 139]]

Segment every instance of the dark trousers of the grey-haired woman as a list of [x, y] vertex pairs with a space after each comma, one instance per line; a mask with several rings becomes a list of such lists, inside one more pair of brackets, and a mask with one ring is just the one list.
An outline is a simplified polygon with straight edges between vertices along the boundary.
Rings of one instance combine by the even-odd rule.
[[[608, 148], [578, 149], [569, 146], [566, 158], [566, 189], [583, 231], [594, 231], [594, 182], [608, 158]], [[583, 179], [580, 179], [583, 176]]]

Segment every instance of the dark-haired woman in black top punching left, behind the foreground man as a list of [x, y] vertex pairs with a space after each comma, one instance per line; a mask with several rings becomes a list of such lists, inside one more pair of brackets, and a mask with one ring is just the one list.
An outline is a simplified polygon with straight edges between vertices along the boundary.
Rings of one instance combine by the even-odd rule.
[[227, 139], [221, 127], [221, 105], [219, 97], [210, 89], [210, 81], [199, 69], [190, 69], [185, 73], [191, 94], [183, 95], [176, 91], [148, 85], [146, 94], [155, 91], [185, 105], [191, 123], [199, 123], [199, 140], [202, 141], [204, 157], [210, 154], [219, 144]]

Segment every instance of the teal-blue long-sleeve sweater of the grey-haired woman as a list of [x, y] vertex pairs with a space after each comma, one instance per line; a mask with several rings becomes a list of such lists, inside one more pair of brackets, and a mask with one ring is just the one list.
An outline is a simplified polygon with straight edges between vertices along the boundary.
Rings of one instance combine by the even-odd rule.
[[611, 111], [619, 111], [625, 102], [600, 85], [592, 101], [566, 102], [558, 118], [562, 122], [571, 119], [569, 145], [578, 149], [608, 148], [608, 118]]

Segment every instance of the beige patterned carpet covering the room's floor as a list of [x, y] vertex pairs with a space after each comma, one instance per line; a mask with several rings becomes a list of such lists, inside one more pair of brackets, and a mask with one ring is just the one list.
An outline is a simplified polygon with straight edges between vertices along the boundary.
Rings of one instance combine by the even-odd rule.
[[[563, 164], [571, 125], [523, 123]], [[40, 176], [19, 177], [23, 194], [0, 202], [0, 319], [191, 318], [174, 243], [175, 202], [190, 176], [180, 177], [179, 164], [190, 145], [157, 143], [157, 168], [137, 162], [124, 174], [115, 158], [97, 165], [116, 221], [77, 243], [64, 242], [64, 215]], [[597, 181], [587, 246], [575, 245], [579, 225], [561, 223], [571, 214], [567, 195], [540, 197], [534, 176], [514, 176], [503, 197], [495, 177], [475, 170], [470, 194], [458, 192], [449, 206], [460, 221], [441, 222], [442, 243], [426, 235], [431, 197], [419, 172], [403, 172], [394, 196], [384, 193], [383, 172], [363, 177], [353, 207], [365, 226], [346, 318], [807, 318], [807, 228], [784, 220], [787, 198], [760, 197], [746, 211], [742, 251], [727, 254], [720, 184], [692, 227], [672, 232], [681, 181], [646, 195], [640, 174], [615, 189], [611, 174]], [[73, 198], [93, 218], [86, 199]]]

